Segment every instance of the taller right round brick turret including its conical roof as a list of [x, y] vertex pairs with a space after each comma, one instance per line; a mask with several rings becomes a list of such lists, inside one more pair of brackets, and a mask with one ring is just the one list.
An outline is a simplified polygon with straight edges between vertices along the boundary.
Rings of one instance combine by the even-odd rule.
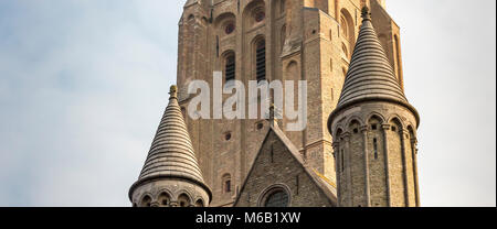
[[340, 207], [420, 206], [419, 123], [364, 7], [343, 89], [328, 120]]

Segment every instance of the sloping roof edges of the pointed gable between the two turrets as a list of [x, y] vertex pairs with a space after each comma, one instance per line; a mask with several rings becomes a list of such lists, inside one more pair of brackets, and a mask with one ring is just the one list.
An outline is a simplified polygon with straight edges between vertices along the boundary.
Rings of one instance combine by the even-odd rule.
[[271, 133], [274, 133], [276, 138], [281, 140], [281, 142], [286, 146], [288, 152], [293, 155], [295, 161], [298, 165], [302, 166], [304, 172], [310, 177], [310, 181], [313, 181], [316, 186], [322, 192], [322, 194], [328, 198], [328, 200], [331, 203], [331, 205], [337, 205], [337, 189], [335, 187], [335, 184], [329, 182], [325, 176], [317, 173], [314, 168], [311, 168], [307, 163], [305, 163], [304, 159], [300, 155], [300, 152], [297, 150], [297, 148], [292, 143], [292, 141], [286, 137], [286, 134], [278, 128], [276, 123], [272, 123], [269, 127], [269, 130], [267, 131], [267, 134], [257, 152], [257, 156], [255, 156], [254, 163], [252, 163], [252, 167], [245, 177], [245, 181], [243, 182], [242, 188], [240, 189], [239, 196], [236, 197], [236, 200], [234, 203], [234, 206], [240, 200], [241, 194], [245, 189], [246, 183], [248, 182], [254, 167], [255, 163], [257, 162], [258, 157], [263, 153], [263, 146], [266, 143], [267, 139], [269, 138]]

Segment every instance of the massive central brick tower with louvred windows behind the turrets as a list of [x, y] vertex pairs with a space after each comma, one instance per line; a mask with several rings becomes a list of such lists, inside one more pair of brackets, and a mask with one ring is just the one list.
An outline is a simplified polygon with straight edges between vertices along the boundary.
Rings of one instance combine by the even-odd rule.
[[[213, 73], [223, 85], [240, 80], [307, 81], [307, 128], [286, 131], [295, 123], [279, 119], [285, 135], [304, 161], [337, 183], [332, 140], [327, 119], [338, 103], [360, 26], [361, 8], [376, 18], [388, 63], [402, 88], [400, 29], [384, 9], [384, 0], [188, 0], [179, 22], [178, 99], [205, 183], [211, 206], [232, 206], [269, 130], [260, 119], [200, 119], [188, 116], [193, 80], [213, 88]], [[210, 95], [211, 101], [213, 95]], [[228, 99], [231, 95], [224, 95]], [[248, 106], [260, 100], [246, 101]], [[286, 103], [286, 101], [285, 101]], [[298, 96], [294, 98], [298, 103]], [[278, 108], [284, 110], [285, 108]], [[211, 106], [211, 118], [212, 118]]]

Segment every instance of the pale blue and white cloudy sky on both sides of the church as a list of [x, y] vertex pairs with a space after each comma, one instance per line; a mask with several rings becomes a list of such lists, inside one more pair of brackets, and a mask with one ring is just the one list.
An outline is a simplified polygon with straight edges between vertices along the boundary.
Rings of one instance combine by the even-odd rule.
[[[0, 206], [129, 206], [182, 1], [0, 0]], [[424, 206], [496, 205], [496, 2], [390, 0]]]

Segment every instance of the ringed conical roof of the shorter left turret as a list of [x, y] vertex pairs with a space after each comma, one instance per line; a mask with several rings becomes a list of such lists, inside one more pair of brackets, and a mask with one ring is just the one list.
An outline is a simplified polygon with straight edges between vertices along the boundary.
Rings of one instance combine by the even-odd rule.
[[202, 186], [210, 195], [195, 153], [188, 134], [187, 126], [178, 103], [177, 87], [170, 90], [169, 105], [157, 130], [150, 151], [141, 170], [138, 182], [131, 190], [142, 182], [155, 178], [182, 178]]

